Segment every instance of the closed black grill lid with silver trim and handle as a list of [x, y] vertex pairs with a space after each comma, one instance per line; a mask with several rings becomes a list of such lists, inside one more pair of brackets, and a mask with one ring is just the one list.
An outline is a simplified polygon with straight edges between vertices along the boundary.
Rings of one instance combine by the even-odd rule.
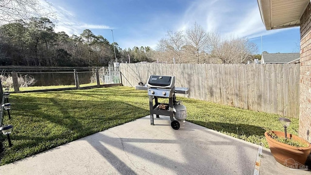
[[175, 76], [150, 75], [147, 86], [150, 88], [174, 88]]

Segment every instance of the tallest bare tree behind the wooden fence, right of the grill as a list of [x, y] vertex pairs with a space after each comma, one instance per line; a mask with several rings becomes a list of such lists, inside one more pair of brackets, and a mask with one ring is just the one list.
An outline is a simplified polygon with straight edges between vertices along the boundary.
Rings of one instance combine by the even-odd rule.
[[204, 54], [210, 48], [208, 39], [208, 33], [196, 22], [186, 31], [187, 51], [199, 64], [204, 62]]

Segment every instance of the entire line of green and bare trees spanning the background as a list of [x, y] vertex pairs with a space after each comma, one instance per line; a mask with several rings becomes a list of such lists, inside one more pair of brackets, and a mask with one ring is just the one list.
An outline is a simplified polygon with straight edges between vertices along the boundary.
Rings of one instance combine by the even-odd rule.
[[258, 57], [255, 43], [247, 38], [223, 38], [194, 23], [184, 31], [168, 31], [155, 50], [149, 46], [121, 49], [89, 29], [69, 36], [55, 32], [49, 18], [16, 20], [0, 26], [0, 65], [17, 66], [108, 66], [119, 62], [246, 63]]

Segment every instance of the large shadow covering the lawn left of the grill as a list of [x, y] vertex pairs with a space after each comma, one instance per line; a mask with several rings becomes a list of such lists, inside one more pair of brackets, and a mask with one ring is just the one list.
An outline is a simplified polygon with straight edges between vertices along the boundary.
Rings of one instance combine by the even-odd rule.
[[8, 147], [6, 140], [3, 142], [5, 150], [0, 165], [149, 114], [149, 110], [138, 107], [142, 104], [118, 101], [118, 97], [113, 101], [90, 101], [83, 100], [83, 95], [77, 100], [18, 96], [12, 102], [9, 123], [14, 125], [13, 146]]

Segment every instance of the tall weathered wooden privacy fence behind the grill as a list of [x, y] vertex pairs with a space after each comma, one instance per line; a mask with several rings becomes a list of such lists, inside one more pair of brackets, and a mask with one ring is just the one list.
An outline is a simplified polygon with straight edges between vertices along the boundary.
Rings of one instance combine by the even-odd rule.
[[123, 86], [174, 75], [189, 98], [299, 118], [299, 64], [121, 64]]

